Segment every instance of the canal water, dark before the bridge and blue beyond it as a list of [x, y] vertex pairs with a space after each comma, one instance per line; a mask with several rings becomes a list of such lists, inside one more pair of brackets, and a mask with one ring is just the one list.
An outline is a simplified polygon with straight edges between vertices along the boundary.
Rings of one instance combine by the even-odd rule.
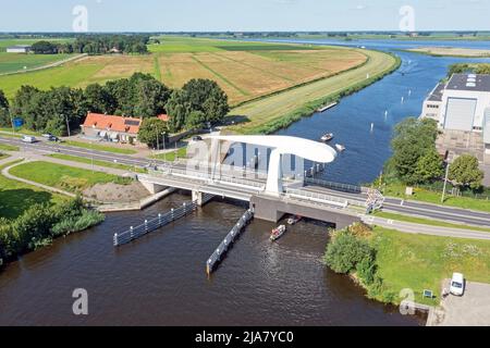
[[[425, 96], [449, 64], [467, 61], [399, 54], [399, 72], [279, 132], [310, 139], [333, 132], [334, 141], [347, 150], [328, 167], [326, 178], [373, 179], [390, 156], [393, 125], [420, 113]], [[324, 268], [328, 234], [322, 224], [303, 222], [271, 244], [273, 225], [254, 221], [208, 279], [206, 260], [246, 209], [238, 202], [211, 202], [195, 215], [113, 248], [113, 233], [188, 199], [174, 195], [142, 212], [108, 214], [101, 225], [9, 264], [0, 272], [0, 325], [424, 324], [368, 300], [348, 277]], [[88, 291], [87, 316], [72, 312], [75, 288]]]

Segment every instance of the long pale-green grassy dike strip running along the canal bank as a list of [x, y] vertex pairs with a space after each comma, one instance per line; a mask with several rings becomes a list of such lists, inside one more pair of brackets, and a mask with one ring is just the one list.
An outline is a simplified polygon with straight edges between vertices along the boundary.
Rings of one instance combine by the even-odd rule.
[[323, 104], [360, 90], [400, 66], [399, 58], [378, 51], [362, 52], [369, 60], [360, 67], [233, 109], [231, 114], [246, 115], [249, 122], [231, 127], [231, 130], [272, 133], [314, 113]]

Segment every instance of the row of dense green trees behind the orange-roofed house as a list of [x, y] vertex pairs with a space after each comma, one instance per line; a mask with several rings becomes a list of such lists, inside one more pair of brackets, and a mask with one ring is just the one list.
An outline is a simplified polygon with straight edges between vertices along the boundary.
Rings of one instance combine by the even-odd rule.
[[[229, 112], [228, 96], [213, 80], [192, 79], [182, 89], [171, 90], [149, 74], [135, 73], [130, 78], [91, 84], [85, 89], [53, 87], [40, 90], [22, 86], [11, 102], [0, 90], [0, 126], [11, 126], [11, 120], [20, 117], [24, 127], [35, 132], [65, 136], [68, 126], [77, 129], [87, 112], [151, 119], [167, 113], [164, 123], [169, 133], [184, 128], [196, 129], [211, 123], [218, 124]], [[144, 122], [142, 141], [154, 144], [155, 125]], [[158, 122], [157, 122], [158, 123]]]

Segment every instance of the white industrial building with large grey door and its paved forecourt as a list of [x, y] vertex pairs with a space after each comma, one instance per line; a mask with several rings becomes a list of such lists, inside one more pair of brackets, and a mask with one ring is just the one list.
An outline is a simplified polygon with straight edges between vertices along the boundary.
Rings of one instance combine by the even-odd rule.
[[470, 153], [490, 164], [490, 75], [454, 74], [430, 92], [421, 116], [438, 122], [438, 149], [450, 161]]

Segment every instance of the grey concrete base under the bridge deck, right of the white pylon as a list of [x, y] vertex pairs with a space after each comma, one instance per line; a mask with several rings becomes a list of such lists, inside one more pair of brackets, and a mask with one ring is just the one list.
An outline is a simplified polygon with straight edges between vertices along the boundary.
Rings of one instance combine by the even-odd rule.
[[302, 203], [287, 202], [267, 196], [254, 196], [250, 200], [250, 208], [254, 209], [255, 217], [277, 223], [285, 214], [301, 215], [335, 224], [335, 228], [344, 228], [355, 222], [360, 222], [360, 217], [347, 212], [335, 212], [310, 207]]

